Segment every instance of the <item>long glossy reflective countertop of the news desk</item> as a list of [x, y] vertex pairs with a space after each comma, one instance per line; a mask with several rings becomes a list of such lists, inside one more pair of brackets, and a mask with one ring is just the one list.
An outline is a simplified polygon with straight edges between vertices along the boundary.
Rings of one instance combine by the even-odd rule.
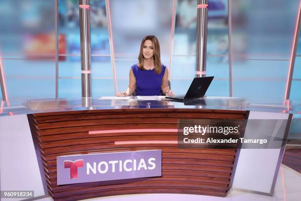
[[[264, 103], [262, 103], [264, 102]], [[246, 100], [238, 97], [206, 97], [191, 102], [174, 102], [165, 100], [138, 101], [136, 97], [129, 100], [98, 100], [88, 99], [39, 99], [1, 101], [0, 116], [33, 114], [56, 111], [77, 111], [95, 109], [222, 109], [250, 110], [281, 113], [297, 113], [294, 107], [283, 102], [267, 102], [263, 100]]]

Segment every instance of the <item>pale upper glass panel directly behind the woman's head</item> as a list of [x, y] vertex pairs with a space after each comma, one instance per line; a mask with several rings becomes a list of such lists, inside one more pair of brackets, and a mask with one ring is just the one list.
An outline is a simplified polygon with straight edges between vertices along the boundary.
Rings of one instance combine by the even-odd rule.
[[109, 9], [115, 59], [137, 59], [142, 38], [156, 35], [169, 65], [173, 0], [109, 0]]

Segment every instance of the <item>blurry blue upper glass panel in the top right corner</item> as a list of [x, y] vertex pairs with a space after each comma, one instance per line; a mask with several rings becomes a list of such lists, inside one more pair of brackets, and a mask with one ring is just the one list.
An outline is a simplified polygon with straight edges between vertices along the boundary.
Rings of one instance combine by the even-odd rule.
[[299, 2], [232, 0], [233, 59], [289, 59]]

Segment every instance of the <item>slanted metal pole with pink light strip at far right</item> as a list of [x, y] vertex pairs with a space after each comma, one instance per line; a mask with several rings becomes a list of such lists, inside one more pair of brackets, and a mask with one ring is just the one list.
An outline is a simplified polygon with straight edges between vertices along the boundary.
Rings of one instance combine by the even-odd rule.
[[298, 46], [298, 39], [299, 39], [300, 21], [301, 21], [301, 0], [300, 0], [300, 3], [299, 3], [299, 10], [298, 10], [297, 22], [296, 22], [296, 27], [295, 27], [294, 39], [293, 39], [292, 54], [291, 54], [291, 58], [290, 58], [290, 65], [289, 65], [289, 72], [288, 72], [288, 77], [287, 77], [287, 82], [286, 82], [286, 90], [285, 90], [284, 100], [289, 100], [290, 99], [293, 72], [294, 72], [297, 46]]

